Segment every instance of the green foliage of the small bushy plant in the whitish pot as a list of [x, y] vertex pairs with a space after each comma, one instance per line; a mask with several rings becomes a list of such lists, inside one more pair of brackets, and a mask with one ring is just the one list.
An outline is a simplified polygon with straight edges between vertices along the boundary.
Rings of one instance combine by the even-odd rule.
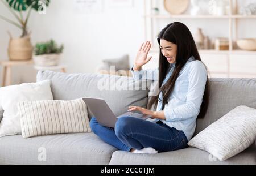
[[35, 55], [41, 54], [60, 54], [64, 49], [63, 44], [57, 46], [54, 40], [50, 40], [47, 42], [40, 42], [35, 45]]

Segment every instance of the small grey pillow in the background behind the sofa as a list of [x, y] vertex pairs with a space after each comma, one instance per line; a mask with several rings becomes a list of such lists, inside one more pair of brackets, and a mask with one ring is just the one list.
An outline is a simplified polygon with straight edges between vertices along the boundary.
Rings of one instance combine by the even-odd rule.
[[115, 70], [130, 70], [129, 55], [123, 55], [120, 58], [115, 59], [104, 59], [103, 61], [104, 70], [109, 71], [110, 66], [115, 66]]

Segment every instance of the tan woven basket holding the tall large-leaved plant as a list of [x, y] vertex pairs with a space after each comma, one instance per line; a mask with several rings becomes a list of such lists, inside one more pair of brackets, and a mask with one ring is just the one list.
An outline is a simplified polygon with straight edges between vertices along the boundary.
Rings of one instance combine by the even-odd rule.
[[28, 60], [32, 58], [33, 46], [30, 37], [10, 38], [8, 55], [10, 61]]

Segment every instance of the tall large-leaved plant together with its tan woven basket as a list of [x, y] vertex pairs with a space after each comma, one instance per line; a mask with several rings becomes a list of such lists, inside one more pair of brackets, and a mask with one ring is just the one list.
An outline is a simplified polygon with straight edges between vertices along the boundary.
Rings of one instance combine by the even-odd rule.
[[5, 5], [11, 14], [14, 15], [18, 22], [8, 19], [0, 14], [0, 19], [9, 22], [22, 30], [22, 35], [19, 38], [13, 38], [10, 35], [8, 55], [9, 59], [27, 60], [32, 58], [33, 47], [30, 41], [30, 33], [28, 32], [28, 19], [30, 18], [31, 10], [42, 11], [49, 5], [50, 0], [0, 0]]

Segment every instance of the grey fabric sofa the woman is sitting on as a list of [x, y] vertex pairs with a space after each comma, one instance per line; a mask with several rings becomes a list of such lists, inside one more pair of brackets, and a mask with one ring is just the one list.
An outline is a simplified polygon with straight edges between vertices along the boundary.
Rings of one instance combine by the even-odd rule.
[[[147, 89], [111, 89], [111, 85], [124, 80], [127, 87], [135, 88], [136, 83], [132, 78], [40, 71], [37, 80], [46, 79], [51, 80], [55, 100], [104, 98], [115, 115], [124, 113], [129, 105], [147, 105]], [[210, 79], [209, 108], [204, 119], [197, 119], [195, 135], [238, 105], [256, 108], [255, 95], [256, 79]], [[89, 113], [90, 117], [91, 115]], [[43, 160], [40, 159], [42, 152], [45, 154]], [[92, 132], [27, 139], [21, 135], [13, 135], [0, 138], [0, 164], [256, 164], [256, 147], [254, 142], [245, 151], [221, 162], [215, 160], [208, 152], [193, 147], [157, 154], [118, 151]]]

